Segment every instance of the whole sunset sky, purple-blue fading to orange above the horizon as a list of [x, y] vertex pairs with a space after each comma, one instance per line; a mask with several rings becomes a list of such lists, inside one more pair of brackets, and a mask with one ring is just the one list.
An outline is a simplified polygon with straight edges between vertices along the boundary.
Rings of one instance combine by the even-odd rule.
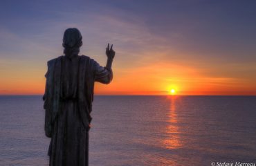
[[66, 28], [80, 55], [102, 66], [113, 44], [111, 84], [98, 95], [256, 95], [256, 1], [13, 1], [0, 6], [0, 94], [44, 93], [47, 61], [63, 55]]

